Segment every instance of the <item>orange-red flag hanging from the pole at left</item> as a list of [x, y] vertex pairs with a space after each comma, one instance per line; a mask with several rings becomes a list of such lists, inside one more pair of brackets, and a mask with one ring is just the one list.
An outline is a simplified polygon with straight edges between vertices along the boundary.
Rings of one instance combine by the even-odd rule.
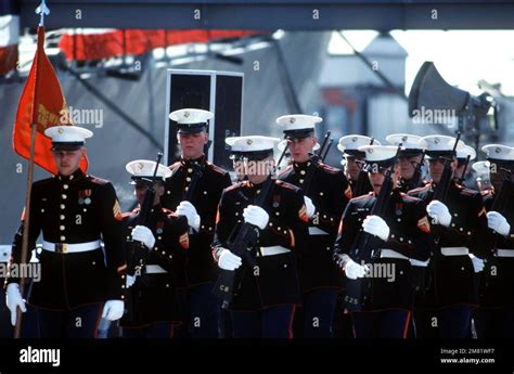
[[[57, 173], [51, 152], [52, 140], [44, 136], [44, 130], [52, 126], [73, 126], [67, 111], [57, 76], [44, 53], [44, 27], [39, 26], [38, 48], [17, 107], [13, 131], [14, 151], [24, 158], [30, 157], [30, 126], [37, 125], [34, 162], [44, 170]], [[86, 157], [80, 168], [87, 170]]]

